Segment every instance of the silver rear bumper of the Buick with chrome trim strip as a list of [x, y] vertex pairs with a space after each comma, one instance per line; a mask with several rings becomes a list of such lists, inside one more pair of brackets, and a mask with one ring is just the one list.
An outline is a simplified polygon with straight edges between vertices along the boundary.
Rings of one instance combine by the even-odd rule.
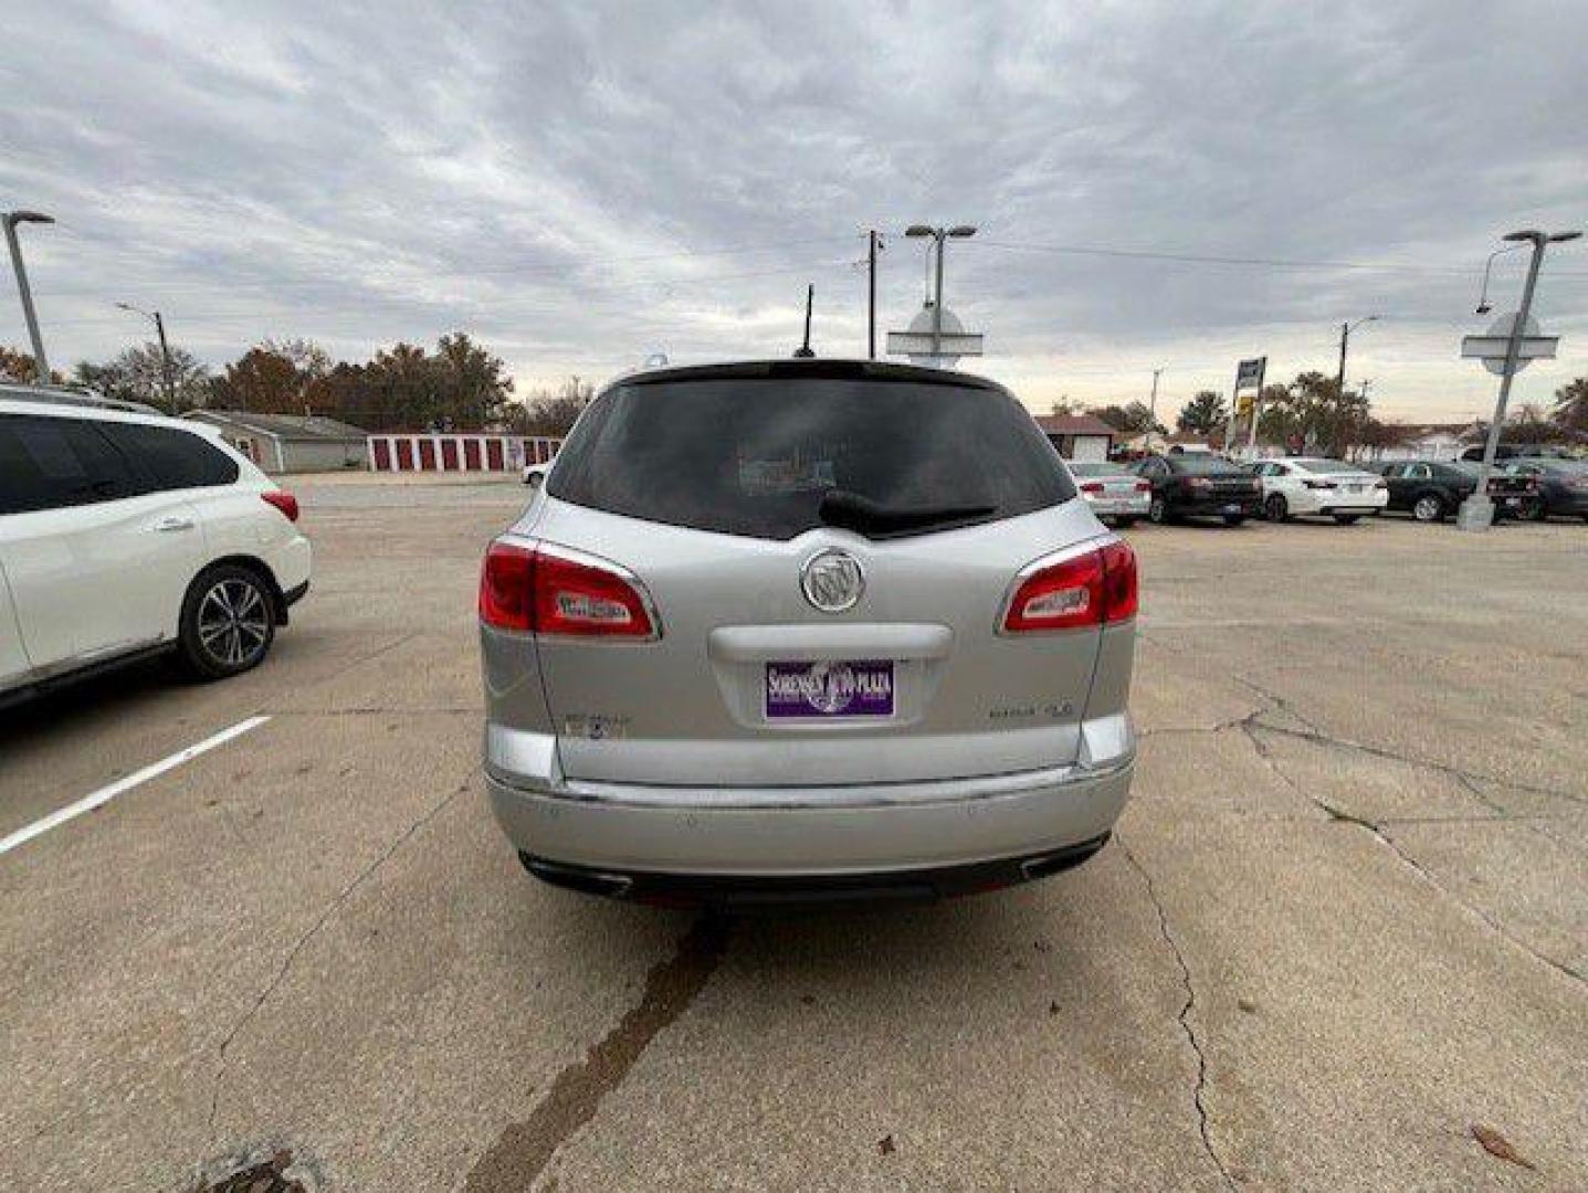
[[[1088, 842], [1100, 847], [1118, 820], [1135, 739], [1126, 717], [1108, 720], [1086, 754], [1091, 765], [934, 782], [764, 788], [526, 781], [503, 771], [488, 733], [486, 781], [508, 839], [545, 868], [630, 879], [719, 877], [734, 887], [886, 874], [907, 880], [912, 873], [985, 863], [1010, 863], [1018, 874], [1021, 861]], [[526, 757], [526, 742], [503, 746]], [[554, 758], [549, 739], [548, 749]], [[535, 752], [529, 744], [527, 754]]]

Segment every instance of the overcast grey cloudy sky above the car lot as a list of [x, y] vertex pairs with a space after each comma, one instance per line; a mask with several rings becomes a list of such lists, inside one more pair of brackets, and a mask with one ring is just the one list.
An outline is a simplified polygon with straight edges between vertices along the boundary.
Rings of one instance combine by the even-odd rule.
[[[24, 230], [57, 365], [141, 338], [132, 301], [211, 365], [465, 328], [521, 389], [599, 381], [783, 355], [807, 281], [818, 351], [864, 354], [862, 230], [889, 233], [888, 328], [923, 298], [902, 228], [970, 222], [948, 306], [1039, 411], [1145, 397], [1159, 365], [1166, 409], [1243, 355], [1332, 371], [1339, 322], [1383, 314], [1353, 382], [1455, 419], [1493, 405], [1456, 346], [1499, 233], [1588, 225], [1580, 0], [0, 14], [0, 208], [59, 219]], [[1521, 401], [1588, 373], [1588, 249], [1537, 314], [1566, 339]], [[0, 343], [25, 343], [10, 274]]]

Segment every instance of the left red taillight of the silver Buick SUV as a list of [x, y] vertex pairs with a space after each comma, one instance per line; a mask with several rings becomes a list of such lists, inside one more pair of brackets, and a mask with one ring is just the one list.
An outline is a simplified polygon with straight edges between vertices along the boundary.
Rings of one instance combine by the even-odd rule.
[[637, 577], [562, 547], [492, 543], [480, 571], [480, 620], [497, 630], [651, 641], [661, 625]]

